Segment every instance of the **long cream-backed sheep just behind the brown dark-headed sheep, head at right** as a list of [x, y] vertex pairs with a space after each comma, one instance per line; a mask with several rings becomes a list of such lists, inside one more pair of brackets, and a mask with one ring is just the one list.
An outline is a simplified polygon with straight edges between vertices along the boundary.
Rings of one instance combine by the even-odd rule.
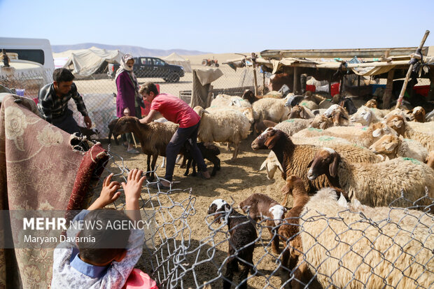
[[335, 136], [351, 141], [358, 146], [369, 146], [384, 134], [396, 134], [395, 130], [381, 122], [372, 123], [369, 127], [329, 127], [328, 129], [303, 129], [294, 137]]

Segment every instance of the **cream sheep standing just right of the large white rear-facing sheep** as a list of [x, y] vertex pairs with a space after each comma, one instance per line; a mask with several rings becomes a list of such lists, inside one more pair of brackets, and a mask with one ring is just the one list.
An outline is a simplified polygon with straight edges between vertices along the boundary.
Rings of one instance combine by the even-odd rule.
[[281, 122], [286, 119], [289, 109], [285, 106], [286, 99], [264, 98], [253, 102], [253, 117], [255, 121], [271, 120]]

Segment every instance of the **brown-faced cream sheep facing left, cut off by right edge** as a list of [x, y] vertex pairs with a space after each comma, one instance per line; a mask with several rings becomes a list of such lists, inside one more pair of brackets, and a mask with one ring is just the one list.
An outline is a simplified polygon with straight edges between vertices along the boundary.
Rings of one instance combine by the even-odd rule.
[[[419, 141], [422, 146], [427, 150], [434, 150], [434, 133], [430, 133], [430, 124], [421, 122], [405, 122], [404, 118], [400, 115], [392, 115], [386, 120], [387, 125], [395, 128], [400, 134], [404, 134], [407, 139], [412, 139], [414, 141]], [[422, 129], [414, 129], [412, 126], [414, 124], [420, 125]], [[424, 127], [425, 125], [428, 125]], [[422, 127], [423, 126], [423, 127]], [[402, 132], [403, 131], [403, 132]]]

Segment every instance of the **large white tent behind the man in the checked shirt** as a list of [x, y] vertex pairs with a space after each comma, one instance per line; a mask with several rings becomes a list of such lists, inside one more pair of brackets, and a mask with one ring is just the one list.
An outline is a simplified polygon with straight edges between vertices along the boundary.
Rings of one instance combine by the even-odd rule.
[[71, 69], [77, 78], [85, 78], [93, 73], [103, 73], [108, 62], [120, 63], [124, 53], [119, 50], [106, 50], [92, 46], [88, 49], [66, 50], [60, 53], [53, 53], [56, 59], [68, 57], [63, 67]]

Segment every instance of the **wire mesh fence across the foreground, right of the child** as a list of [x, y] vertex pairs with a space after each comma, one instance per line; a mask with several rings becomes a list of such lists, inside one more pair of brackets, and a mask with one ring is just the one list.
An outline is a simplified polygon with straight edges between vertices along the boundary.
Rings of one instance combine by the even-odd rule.
[[[123, 158], [110, 147], [109, 157], [104, 174], [126, 181], [130, 168]], [[274, 220], [267, 223], [269, 218], [255, 223], [248, 211], [241, 214], [229, 199], [229, 209], [208, 211], [200, 226], [207, 237], [197, 239], [192, 217], [209, 208], [197, 206], [192, 188], [152, 188], [160, 180], [155, 176], [154, 182], [146, 181], [141, 194], [141, 216], [151, 225], [137, 267], [160, 288], [221, 288], [222, 283], [223, 288], [434, 286], [434, 218], [426, 213], [434, 199], [426, 208], [407, 200], [407, 208], [394, 207], [393, 202], [370, 208], [343, 206], [337, 195], [316, 195], [300, 217], [286, 218], [279, 225]], [[101, 184], [94, 188], [94, 198], [100, 189]], [[187, 197], [179, 197], [180, 192], [187, 192]], [[113, 206], [122, 210], [124, 204], [118, 199]], [[296, 228], [293, 234], [285, 233], [291, 227]], [[273, 252], [276, 238], [279, 251]]]

